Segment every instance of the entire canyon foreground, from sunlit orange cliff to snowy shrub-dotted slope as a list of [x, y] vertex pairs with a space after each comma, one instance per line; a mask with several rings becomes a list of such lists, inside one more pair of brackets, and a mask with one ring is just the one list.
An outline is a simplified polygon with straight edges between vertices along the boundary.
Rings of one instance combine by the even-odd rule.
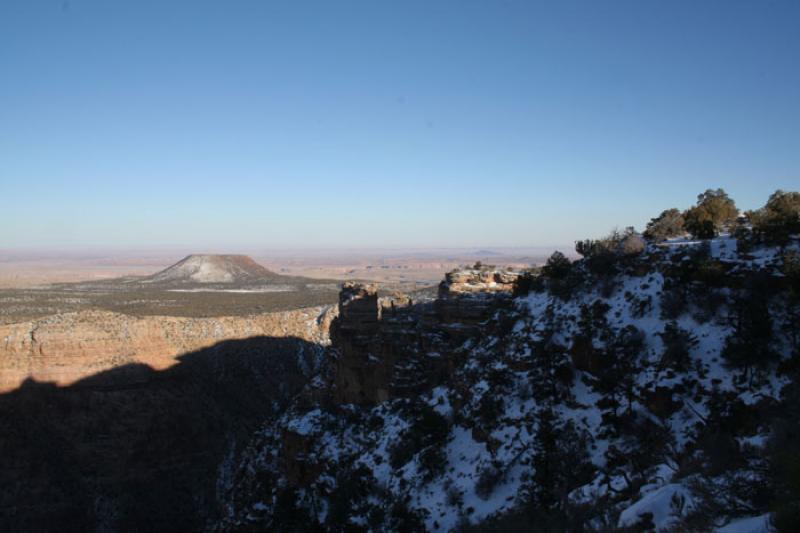
[[435, 291], [0, 326], [0, 529], [764, 526], [800, 241], [609, 239]]

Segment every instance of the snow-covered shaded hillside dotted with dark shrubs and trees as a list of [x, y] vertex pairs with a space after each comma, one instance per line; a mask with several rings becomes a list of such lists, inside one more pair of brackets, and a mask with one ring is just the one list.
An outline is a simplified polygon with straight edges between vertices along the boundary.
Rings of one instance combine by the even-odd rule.
[[323, 374], [254, 439], [219, 528], [765, 530], [799, 248], [582, 260], [431, 354], [450, 371], [419, 394], [336, 404]]

